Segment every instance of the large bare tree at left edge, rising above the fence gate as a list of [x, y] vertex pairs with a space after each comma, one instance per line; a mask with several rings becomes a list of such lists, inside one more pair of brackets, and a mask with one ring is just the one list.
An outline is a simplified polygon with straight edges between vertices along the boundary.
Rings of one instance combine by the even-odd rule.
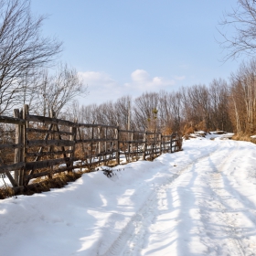
[[24, 78], [61, 50], [56, 39], [41, 37], [44, 19], [32, 16], [29, 0], [0, 0], [0, 114], [22, 101]]

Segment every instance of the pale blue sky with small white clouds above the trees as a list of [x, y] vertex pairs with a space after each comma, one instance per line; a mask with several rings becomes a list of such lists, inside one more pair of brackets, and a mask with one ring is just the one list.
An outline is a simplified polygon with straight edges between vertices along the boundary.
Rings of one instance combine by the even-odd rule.
[[229, 80], [240, 60], [222, 63], [217, 31], [236, 0], [31, 0], [49, 15], [43, 34], [63, 41], [61, 61], [88, 84], [83, 104], [144, 91]]

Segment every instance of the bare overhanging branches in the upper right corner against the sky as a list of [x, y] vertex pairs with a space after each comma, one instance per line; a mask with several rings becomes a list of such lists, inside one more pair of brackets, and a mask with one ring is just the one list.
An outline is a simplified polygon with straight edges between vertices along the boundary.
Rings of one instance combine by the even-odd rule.
[[[223, 59], [235, 59], [241, 54], [253, 56], [256, 53], [256, 1], [238, 0], [238, 6], [232, 12], [225, 13], [219, 25], [223, 41], [220, 47], [228, 53]], [[224, 32], [228, 29], [229, 33]], [[234, 32], [235, 33], [234, 33]]]

